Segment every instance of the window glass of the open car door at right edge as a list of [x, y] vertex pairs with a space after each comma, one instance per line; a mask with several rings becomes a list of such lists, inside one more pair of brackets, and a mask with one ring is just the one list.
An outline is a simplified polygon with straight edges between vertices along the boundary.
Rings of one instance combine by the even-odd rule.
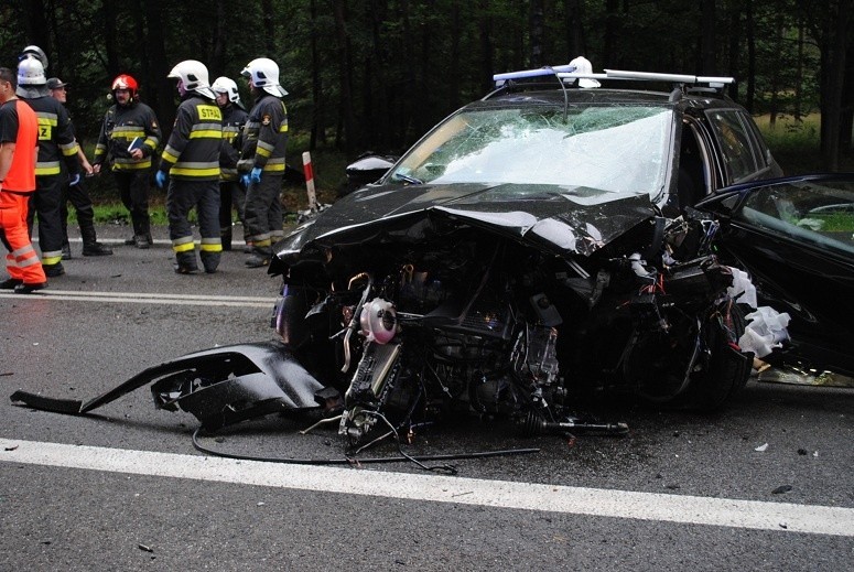
[[742, 219], [821, 250], [854, 255], [854, 186], [850, 182], [798, 181], [756, 188]]

